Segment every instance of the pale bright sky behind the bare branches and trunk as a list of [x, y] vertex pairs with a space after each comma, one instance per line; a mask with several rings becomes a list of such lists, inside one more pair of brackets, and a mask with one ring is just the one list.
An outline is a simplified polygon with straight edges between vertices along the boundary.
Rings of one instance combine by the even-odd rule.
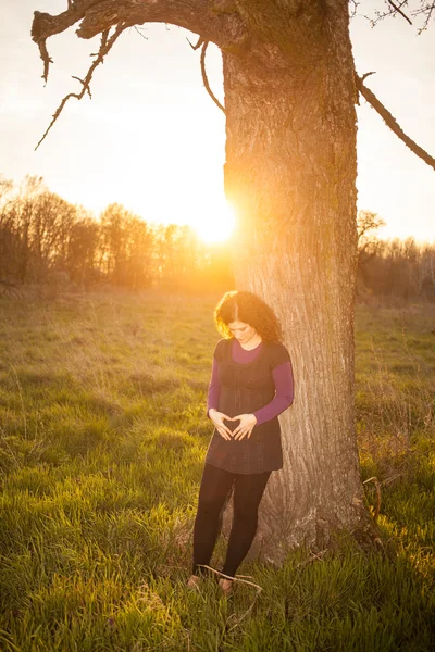
[[[362, 0], [374, 14], [381, 0]], [[3, 0], [0, 24], [0, 174], [20, 183], [42, 176], [53, 192], [97, 215], [120, 202], [147, 222], [190, 224], [206, 239], [226, 235], [224, 114], [206, 92], [195, 35], [146, 25], [121, 35], [95, 73], [92, 99], [71, 100], [35, 152], [62, 97], [77, 91], [99, 39], [74, 28], [51, 38], [47, 86], [30, 38], [33, 11], [60, 13], [66, 0]], [[356, 67], [403, 130], [435, 155], [435, 24], [417, 35], [402, 18], [375, 28], [351, 22]], [[207, 70], [223, 102], [222, 62], [209, 46]], [[377, 213], [385, 238], [435, 241], [434, 171], [411, 153], [361, 98], [358, 108], [358, 208]], [[207, 220], [204, 220], [204, 215]], [[204, 226], [207, 225], [207, 226]]]

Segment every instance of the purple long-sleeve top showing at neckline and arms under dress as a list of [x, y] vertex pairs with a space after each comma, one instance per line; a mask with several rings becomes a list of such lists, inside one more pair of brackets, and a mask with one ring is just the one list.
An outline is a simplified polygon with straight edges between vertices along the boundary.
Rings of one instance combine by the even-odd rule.
[[[252, 362], [259, 354], [262, 343], [252, 349], [246, 351], [241, 348], [237, 340], [234, 340], [232, 348], [233, 360], [240, 364], [247, 364]], [[209, 385], [209, 393], [207, 400], [207, 414], [209, 411], [219, 409], [219, 398], [221, 396], [221, 381], [219, 379], [219, 361], [213, 358], [213, 367], [211, 373], [211, 380]], [[272, 371], [273, 381], [275, 384], [275, 396], [270, 403], [253, 412], [257, 418], [257, 425], [268, 422], [291, 405], [294, 400], [294, 379], [291, 363], [285, 362], [279, 364]]]

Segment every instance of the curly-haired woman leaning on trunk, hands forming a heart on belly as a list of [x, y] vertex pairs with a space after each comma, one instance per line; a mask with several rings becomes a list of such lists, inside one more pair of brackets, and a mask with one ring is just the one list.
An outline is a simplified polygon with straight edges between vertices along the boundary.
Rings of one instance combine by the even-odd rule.
[[[251, 292], [227, 292], [214, 319], [224, 336], [214, 350], [208, 415], [214, 432], [206, 456], [194, 528], [188, 586], [198, 586], [234, 485], [234, 518], [222, 574], [234, 577], [257, 531], [258, 507], [272, 471], [283, 466], [277, 415], [293, 403], [290, 356], [273, 311]], [[233, 580], [220, 579], [224, 593]]]

